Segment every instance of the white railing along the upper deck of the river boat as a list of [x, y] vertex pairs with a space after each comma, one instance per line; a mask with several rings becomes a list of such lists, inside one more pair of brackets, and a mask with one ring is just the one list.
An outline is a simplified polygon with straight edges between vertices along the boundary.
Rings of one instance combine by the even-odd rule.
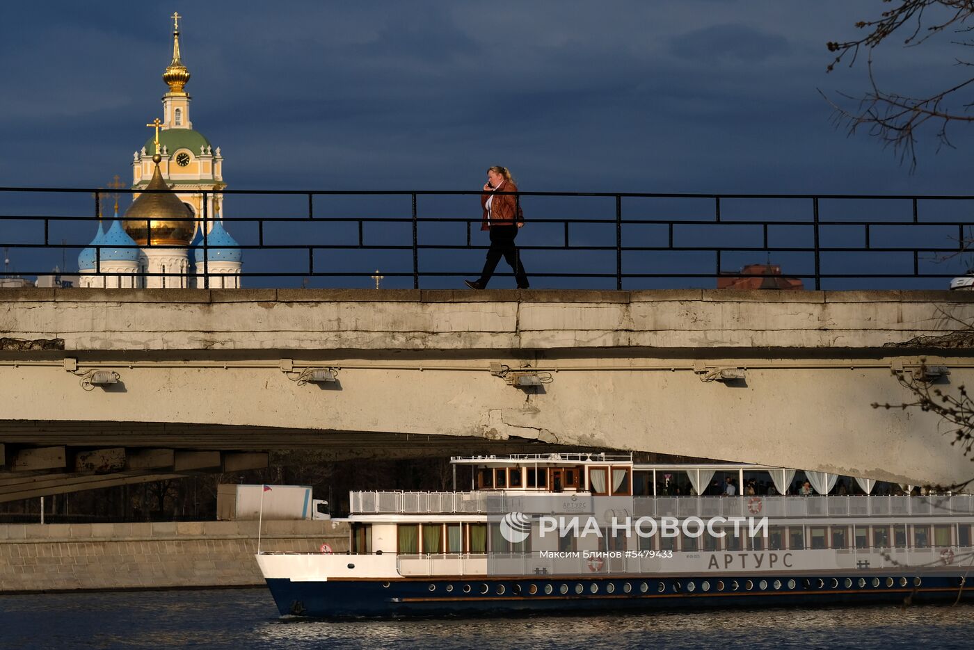
[[[572, 492], [571, 494], [575, 494]], [[354, 515], [371, 514], [505, 514], [531, 512], [543, 497], [568, 497], [569, 492], [496, 490], [456, 492], [353, 491]], [[588, 493], [579, 498], [592, 499]], [[533, 501], [529, 497], [539, 500]], [[603, 497], [607, 498], [607, 497]], [[636, 496], [629, 499], [636, 517], [953, 517], [974, 515], [974, 495], [927, 496]], [[618, 507], [614, 504], [616, 510]], [[589, 510], [594, 510], [591, 508]]]

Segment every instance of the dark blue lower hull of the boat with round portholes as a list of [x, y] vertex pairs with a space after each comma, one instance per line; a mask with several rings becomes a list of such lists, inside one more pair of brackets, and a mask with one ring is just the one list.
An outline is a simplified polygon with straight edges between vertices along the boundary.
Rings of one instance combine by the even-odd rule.
[[959, 574], [829, 574], [554, 579], [267, 580], [281, 615], [315, 618], [573, 613], [673, 608], [974, 600]]

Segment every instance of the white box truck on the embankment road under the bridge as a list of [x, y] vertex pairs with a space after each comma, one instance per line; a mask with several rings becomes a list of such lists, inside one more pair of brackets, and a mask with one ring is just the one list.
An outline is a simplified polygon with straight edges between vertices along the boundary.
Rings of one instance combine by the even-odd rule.
[[261, 517], [261, 512], [268, 521], [331, 519], [328, 502], [312, 498], [310, 486], [220, 484], [216, 487], [217, 520], [255, 520]]

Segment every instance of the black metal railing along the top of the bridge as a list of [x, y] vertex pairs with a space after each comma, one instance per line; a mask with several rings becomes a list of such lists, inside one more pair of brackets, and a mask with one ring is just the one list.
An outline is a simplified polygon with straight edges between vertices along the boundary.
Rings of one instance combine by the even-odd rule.
[[[94, 195], [92, 203], [84, 199], [87, 194]], [[116, 193], [97, 189], [0, 188], [0, 247], [14, 251], [88, 247], [94, 235], [94, 219], [102, 213], [102, 203], [110, 194]], [[122, 194], [133, 194], [133, 191], [124, 190]], [[244, 252], [287, 252], [291, 261], [300, 261], [303, 267], [298, 271], [280, 271], [273, 266], [248, 268], [245, 265], [244, 271], [239, 273], [241, 276], [361, 280], [372, 274], [371, 269], [337, 269], [333, 259], [336, 252], [373, 251], [376, 255], [386, 255], [408, 251], [411, 253], [411, 264], [390, 262], [394, 268], [384, 270], [382, 274], [389, 278], [411, 279], [412, 287], [418, 289], [425, 278], [470, 277], [479, 270], [482, 262], [479, 256], [469, 257], [466, 262], [468, 268], [456, 269], [450, 267], [453, 263], [448, 255], [450, 251], [486, 248], [486, 237], [473, 235], [480, 228], [479, 194], [469, 191], [222, 190], [215, 194], [197, 193], [202, 199], [202, 210], [192, 218], [206, 226], [206, 233], [208, 225], [214, 220], [208, 208], [209, 199], [214, 196], [220, 199], [235, 198], [240, 206], [237, 213], [244, 215], [247, 203], [256, 197], [301, 199], [306, 205], [301, 209], [303, 214], [300, 216], [263, 214], [223, 219]], [[30, 204], [34, 207], [25, 208], [22, 214], [18, 214], [14, 207], [18, 202], [15, 199], [22, 199], [26, 195], [41, 195], [47, 199], [32, 201]], [[61, 199], [68, 197], [72, 207], [65, 209], [73, 214], [56, 215], [53, 214], [54, 210], [36, 207], [53, 196]], [[388, 214], [361, 216], [368, 202], [376, 199], [401, 201], [396, 207], [388, 209]], [[450, 208], [451, 214], [463, 216], [434, 215], [429, 209], [424, 211], [430, 201], [446, 199], [455, 199], [456, 205]], [[974, 197], [970, 196], [521, 192], [516, 199], [524, 208], [529, 227], [525, 235], [519, 236], [518, 243], [523, 253], [584, 251], [604, 254], [600, 261], [585, 265], [573, 261], [544, 265], [532, 263], [534, 266], [528, 269], [531, 277], [604, 278], [615, 280], [616, 289], [630, 288], [635, 280], [647, 278], [679, 278], [693, 282], [741, 276], [739, 269], [742, 265], [730, 260], [740, 260], [741, 256], [747, 255], [751, 256], [748, 264], [760, 263], [770, 256], [798, 255], [801, 261], [783, 269], [783, 274], [807, 279], [814, 289], [823, 288], [823, 281], [835, 279], [862, 282], [948, 278], [957, 275], [958, 271], [945, 267], [929, 269], [928, 263], [965, 252], [974, 227]], [[322, 204], [328, 205], [336, 200], [351, 206], [343, 208], [351, 214], [321, 213]], [[591, 200], [596, 201], [595, 207], [592, 207]], [[552, 207], [550, 201], [556, 201], [557, 205]], [[87, 216], [84, 215], [85, 210], [78, 207], [82, 203], [91, 206]], [[573, 207], [582, 204], [584, 207]], [[782, 205], [787, 205], [787, 209]], [[691, 216], [674, 216], [675, 213], [686, 212], [684, 208], [687, 206], [692, 208], [687, 212]], [[582, 216], [562, 216], [560, 213], [565, 210], [581, 211]], [[796, 214], [798, 216], [794, 216]], [[852, 216], [847, 217], [849, 214]], [[948, 216], [945, 217], [945, 214]], [[144, 219], [121, 219], [145, 223]], [[37, 229], [27, 229], [36, 230], [36, 233], [22, 236], [18, 232], [18, 229], [23, 230], [20, 227], [22, 223], [36, 224]], [[343, 229], [351, 226], [357, 236], [345, 242], [336, 242], [328, 236], [321, 240], [308, 240], [296, 228], [301, 224], [322, 223]], [[88, 228], [82, 228], [82, 224], [87, 224]], [[447, 241], [442, 241], [439, 236], [423, 235], [426, 226], [442, 227], [449, 224], [460, 226], [464, 234]], [[372, 233], [373, 226], [381, 227], [380, 235]], [[389, 243], [382, 231], [396, 226], [403, 227], [403, 232], [408, 232], [409, 236]], [[53, 232], [53, 229], [57, 232]], [[528, 235], [532, 230], [535, 235]], [[67, 231], [71, 231], [71, 236], [58, 236]], [[151, 241], [144, 247], [172, 248]], [[213, 246], [205, 239], [201, 247], [205, 267], [201, 286], [206, 287], [208, 277], [220, 273], [207, 270], [209, 262], [213, 260]], [[680, 266], [672, 260], [657, 259], [663, 252], [680, 253], [683, 259], [699, 254], [703, 256], [700, 258], [703, 261]], [[106, 273], [100, 271], [100, 251], [96, 253], [97, 267], [91, 274], [104, 275]], [[883, 258], [878, 263], [871, 257], [877, 253], [892, 254], [895, 260], [891, 262]], [[34, 268], [35, 264], [32, 260], [28, 269], [17, 271], [20, 275], [52, 274], [50, 270]], [[735, 268], [728, 271], [725, 268], [728, 265]], [[966, 269], [960, 272], [963, 271]], [[138, 273], [140, 277], [177, 274]], [[931, 286], [944, 287], [944, 283], [931, 283]], [[860, 285], [857, 288], [865, 287]]]

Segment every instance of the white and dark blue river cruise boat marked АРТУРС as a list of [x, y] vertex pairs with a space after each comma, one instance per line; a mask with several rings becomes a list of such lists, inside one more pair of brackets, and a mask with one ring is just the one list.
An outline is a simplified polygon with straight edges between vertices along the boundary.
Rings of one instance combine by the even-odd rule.
[[[452, 458], [454, 490], [354, 491], [349, 551], [258, 553], [282, 615], [970, 601], [974, 497], [630, 455]], [[457, 489], [458, 470], [461, 483]], [[467, 483], [468, 482], [468, 483]], [[844, 492], [844, 493], [843, 493]]]

